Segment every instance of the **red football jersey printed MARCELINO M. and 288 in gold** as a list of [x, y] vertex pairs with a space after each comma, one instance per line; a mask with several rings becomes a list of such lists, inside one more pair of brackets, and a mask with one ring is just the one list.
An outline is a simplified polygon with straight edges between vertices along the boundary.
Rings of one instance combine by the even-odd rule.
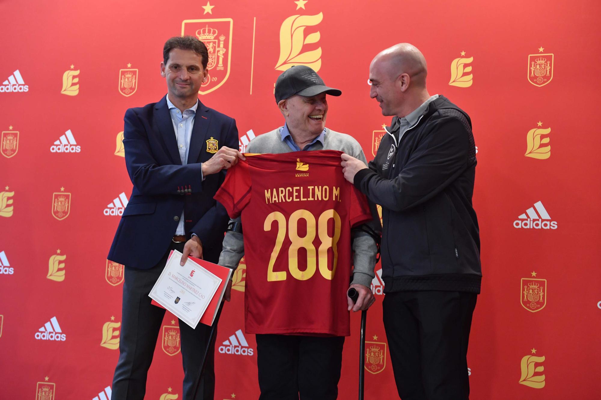
[[215, 195], [242, 214], [247, 333], [348, 336], [350, 229], [372, 218], [341, 151], [247, 156]]

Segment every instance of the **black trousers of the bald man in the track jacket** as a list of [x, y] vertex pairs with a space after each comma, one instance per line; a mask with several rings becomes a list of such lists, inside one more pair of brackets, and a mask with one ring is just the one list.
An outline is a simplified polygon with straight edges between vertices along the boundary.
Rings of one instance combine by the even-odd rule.
[[403, 400], [469, 399], [469, 330], [475, 293], [387, 293], [383, 319], [398, 395]]

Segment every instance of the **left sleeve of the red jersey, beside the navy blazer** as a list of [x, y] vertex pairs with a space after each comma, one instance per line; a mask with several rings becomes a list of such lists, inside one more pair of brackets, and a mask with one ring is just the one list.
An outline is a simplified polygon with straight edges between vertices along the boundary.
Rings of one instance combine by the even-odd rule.
[[240, 216], [242, 210], [251, 201], [251, 186], [248, 162], [240, 160], [228, 169], [224, 183], [213, 198], [220, 202], [227, 210], [228, 216], [234, 219]]

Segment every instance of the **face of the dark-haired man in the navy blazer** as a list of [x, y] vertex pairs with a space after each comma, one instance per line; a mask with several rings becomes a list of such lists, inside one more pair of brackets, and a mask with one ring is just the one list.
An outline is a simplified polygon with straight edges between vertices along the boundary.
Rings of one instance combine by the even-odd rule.
[[203, 69], [203, 57], [192, 50], [173, 49], [167, 64], [160, 63], [160, 74], [167, 80], [169, 97], [198, 98], [200, 85], [207, 78]]

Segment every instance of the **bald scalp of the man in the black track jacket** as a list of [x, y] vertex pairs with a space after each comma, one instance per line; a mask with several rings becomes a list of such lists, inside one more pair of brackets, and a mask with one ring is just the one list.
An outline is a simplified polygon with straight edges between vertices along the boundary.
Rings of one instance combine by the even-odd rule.
[[382, 50], [371, 61], [371, 65], [374, 64], [380, 67], [389, 79], [396, 79], [400, 74], [406, 73], [413, 85], [426, 86], [426, 58], [413, 44], [398, 43]]

